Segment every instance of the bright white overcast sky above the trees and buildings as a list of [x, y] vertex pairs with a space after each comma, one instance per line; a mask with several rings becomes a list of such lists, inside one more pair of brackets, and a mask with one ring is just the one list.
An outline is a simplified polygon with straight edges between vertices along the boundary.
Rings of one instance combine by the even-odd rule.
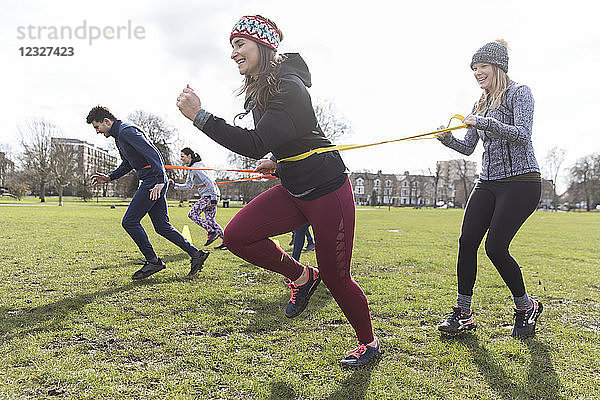
[[[156, 113], [200, 152], [226, 166], [220, 148], [175, 106], [189, 83], [204, 108], [231, 121], [241, 111], [242, 79], [229, 58], [233, 24], [262, 14], [284, 32], [280, 52], [299, 52], [314, 99], [329, 99], [353, 127], [344, 143], [369, 143], [426, 132], [466, 115], [480, 90], [469, 69], [473, 52], [508, 41], [509, 76], [535, 98], [533, 144], [540, 164], [550, 148], [565, 166], [599, 151], [593, 116], [600, 110], [600, 33], [592, 1], [3, 1], [0, 15], [0, 146], [18, 150], [17, 125], [40, 117], [65, 136], [107, 147], [85, 116], [96, 104], [117, 117]], [[141, 27], [143, 38], [37, 39], [37, 27]], [[19, 27], [34, 26], [35, 38]], [[83, 30], [81, 30], [83, 31]], [[23, 32], [23, 31], [21, 31]], [[139, 33], [140, 31], [138, 31]], [[26, 32], [27, 33], [27, 32]], [[71, 46], [72, 57], [24, 57], [20, 47]], [[464, 131], [457, 133], [464, 135]], [[481, 162], [481, 144], [469, 157]], [[427, 173], [435, 161], [461, 157], [436, 140], [350, 150], [352, 170]], [[563, 183], [564, 185], [564, 183]]]

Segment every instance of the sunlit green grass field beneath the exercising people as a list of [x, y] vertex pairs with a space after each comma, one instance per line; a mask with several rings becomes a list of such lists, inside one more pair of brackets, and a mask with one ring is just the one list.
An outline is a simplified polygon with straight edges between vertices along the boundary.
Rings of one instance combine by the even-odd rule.
[[[124, 207], [109, 203], [0, 206], [0, 398], [600, 398], [598, 213], [536, 212], [517, 235], [512, 254], [545, 306], [537, 336], [521, 341], [483, 250], [478, 330], [436, 329], [456, 298], [462, 210], [359, 209], [353, 275], [386, 353], [352, 371], [338, 360], [355, 337], [324, 285], [288, 320], [280, 276], [213, 250], [189, 279], [188, 257], [147, 219], [167, 269], [133, 282], [141, 255]], [[238, 210], [220, 208], [219, 222]], [[202, 244], [187, 211], [169, 208]]]

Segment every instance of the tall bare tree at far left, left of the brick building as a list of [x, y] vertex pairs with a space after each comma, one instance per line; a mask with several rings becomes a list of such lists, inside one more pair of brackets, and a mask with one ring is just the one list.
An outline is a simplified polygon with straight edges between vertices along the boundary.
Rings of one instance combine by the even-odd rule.
[[51, 138], [59, 136], [60, 131], [52, 122], [44, 119], [32, 119], [17, 126], [19, 140], [23, 147], [22, 161], [24, 177], [39, 190], [40, 201], [46, 201], [46, 186], [52, 178], [50, 164]]

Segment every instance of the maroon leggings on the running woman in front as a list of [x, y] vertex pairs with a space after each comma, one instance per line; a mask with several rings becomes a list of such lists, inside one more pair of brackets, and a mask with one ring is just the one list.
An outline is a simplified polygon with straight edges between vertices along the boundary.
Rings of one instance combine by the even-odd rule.
[[319, 273], [356, 331], [358, 340], [373, 341], [365, 294], [350, 275], [354, 241], [354, 197], [350, 181], [315, 200], [300, 200], [275, 186], [248, 203], [225, 228], [223, 243], [238, 257], [296, 280], [303, 266], [269, 237], [309, 223], [313, 228]]

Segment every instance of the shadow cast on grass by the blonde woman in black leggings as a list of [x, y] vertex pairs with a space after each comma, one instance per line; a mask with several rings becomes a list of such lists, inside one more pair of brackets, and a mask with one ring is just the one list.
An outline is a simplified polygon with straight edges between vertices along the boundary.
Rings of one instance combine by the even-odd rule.
[[471, 351], [480, 374], [502, 399], [564, 399], [560, 394], [562, 384], [552, 364], [550, 347], [536, 338], [523, 340], [531, 357], [527, 382], [524, 385], [515, 383], [515, 378], [507, 374], [494, 360], [485, 346], [479, 343], [475, 334], [442, 335], [441, 340], [465, 345]]

